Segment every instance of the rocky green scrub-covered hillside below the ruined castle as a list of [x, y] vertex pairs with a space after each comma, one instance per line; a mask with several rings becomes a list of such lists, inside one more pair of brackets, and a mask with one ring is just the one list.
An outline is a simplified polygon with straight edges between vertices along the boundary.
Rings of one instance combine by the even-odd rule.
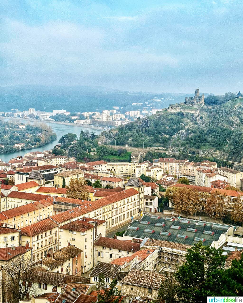
[[221, 105], [169, 106], [156, 115], [101, 133], [104, 143], [158, 146], [169, 151], [243, 159], [243, 98]]

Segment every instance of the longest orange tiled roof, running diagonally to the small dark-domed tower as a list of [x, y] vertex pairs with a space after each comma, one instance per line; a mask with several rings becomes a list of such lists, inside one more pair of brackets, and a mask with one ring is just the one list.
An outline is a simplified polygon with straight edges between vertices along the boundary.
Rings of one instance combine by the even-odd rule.
[[[51, 218], [53, 218], [53, 220], [55, 220], [57, 223], [60, 224], [60, 223], [66, 222], [68, 220], [78, 218], [82, 215], [85, 215], [90, 211], [94, 211], [98, 208], [101, 208], [103, 206], [109, 205], [111, 203], [120, 201], [120, 200], [128, 198], [128, 197], [131, 197], [132, 195], [136, 195], [136, 194], [139, 194], [139, 192], [136, 191], [134, 188], [130, 188], [128, 190], [115, 193], [114, 195], [110, 195], [108, 197], [101, 198], [97, 201], [87, 202], [87, 204], [85, 204], [85, 205], [73, 208], [72, 211], [64, 211], [60, 214], [53, 215]], [[66, 198], [60, 198], [60, 197], [55, 198], [55, 200], [57, 200], [57, 201], [59, 199], [66, 199]], [[65, 201], [65, 200], [63, 200], [63, 201]], [[79, 201], [82, 201], [82, 200], [79, 200]]]

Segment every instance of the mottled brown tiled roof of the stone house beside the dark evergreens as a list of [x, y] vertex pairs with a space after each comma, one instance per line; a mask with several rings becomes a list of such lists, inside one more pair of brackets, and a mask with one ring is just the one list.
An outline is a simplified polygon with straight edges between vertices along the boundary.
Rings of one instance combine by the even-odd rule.
[[144, 288], [159, 289], [164, 275], [154, 271], [132, 269], [121, 280], [121, 284], [135, 285]]

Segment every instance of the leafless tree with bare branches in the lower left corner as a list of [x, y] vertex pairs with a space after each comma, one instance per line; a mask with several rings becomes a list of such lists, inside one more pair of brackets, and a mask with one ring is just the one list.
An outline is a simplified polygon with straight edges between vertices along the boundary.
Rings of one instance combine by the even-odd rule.
[[[29, 292], [34, 275], [32, 260], [24, 255], [16, 257], [11, 265], [3, 268], [3, 289], [8, 295], [12, 294], [13, 300], [23, 300]], [[31, 288], [33, 291], [33, 288]]]

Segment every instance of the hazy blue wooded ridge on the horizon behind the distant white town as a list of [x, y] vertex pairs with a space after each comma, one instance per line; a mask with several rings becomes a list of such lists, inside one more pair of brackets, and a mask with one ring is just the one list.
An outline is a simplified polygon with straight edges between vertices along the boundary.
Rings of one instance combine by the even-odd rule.
[[[66, 109], [70, 112], [102, 111], [113, 106], [132, 110], [132, 103], [143, 103], [155, 96], [171, 100], [163, 107], [178, 102], [182, 94], [156, 94], [146, 92], [123, 92], [115, 89], [87, 86], [38, 86], [20, 85], [0, 87], [1, 111], [18, 108], [20, 111], [33, 107], [36, 110], [52, 112], [53, 109]], [[184, 98], [184, 97], [183, 97]], [[173, 101], [176, 99], [175, 101]]]

